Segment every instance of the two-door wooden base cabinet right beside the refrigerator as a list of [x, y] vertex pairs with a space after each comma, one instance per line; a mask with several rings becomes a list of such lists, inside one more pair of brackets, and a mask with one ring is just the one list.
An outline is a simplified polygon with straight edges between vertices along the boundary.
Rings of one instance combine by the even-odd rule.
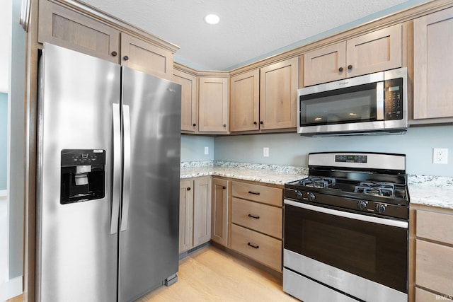
[[211, 178], [180, 180], [179, 252], [211, 238]]

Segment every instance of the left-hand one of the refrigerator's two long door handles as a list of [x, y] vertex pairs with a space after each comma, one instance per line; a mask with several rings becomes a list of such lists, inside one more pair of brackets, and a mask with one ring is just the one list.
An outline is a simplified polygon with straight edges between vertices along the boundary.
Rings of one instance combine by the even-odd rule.
[[121, 196], [121, 120], [120, 104], [112, 104], [113, 112], [113, 192], [112, 217], [110, 221], [110, 235], [118, 231]]

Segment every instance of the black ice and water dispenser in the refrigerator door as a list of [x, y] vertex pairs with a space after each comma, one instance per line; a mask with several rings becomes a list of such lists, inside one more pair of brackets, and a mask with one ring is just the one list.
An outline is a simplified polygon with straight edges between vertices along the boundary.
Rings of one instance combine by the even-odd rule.
[[105, 150], [64, 149], [61, 156], [61, 204], [105, 196]]

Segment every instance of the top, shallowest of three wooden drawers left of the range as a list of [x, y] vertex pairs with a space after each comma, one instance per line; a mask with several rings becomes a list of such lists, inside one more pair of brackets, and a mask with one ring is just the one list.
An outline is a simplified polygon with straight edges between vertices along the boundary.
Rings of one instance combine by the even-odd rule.
[[263, 204], [273, 204], [277, 207], [283, 206], [283, 190], [277, 187], [234, 181], [232, 194], [234, 197], [263, 202]]

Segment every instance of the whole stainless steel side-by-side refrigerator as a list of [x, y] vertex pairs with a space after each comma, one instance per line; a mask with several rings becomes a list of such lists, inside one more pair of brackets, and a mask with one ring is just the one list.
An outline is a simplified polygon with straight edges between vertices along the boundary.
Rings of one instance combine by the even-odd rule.
[[133, 301], [176, 281], [176, 83], [45, 43], [37, 301]]

